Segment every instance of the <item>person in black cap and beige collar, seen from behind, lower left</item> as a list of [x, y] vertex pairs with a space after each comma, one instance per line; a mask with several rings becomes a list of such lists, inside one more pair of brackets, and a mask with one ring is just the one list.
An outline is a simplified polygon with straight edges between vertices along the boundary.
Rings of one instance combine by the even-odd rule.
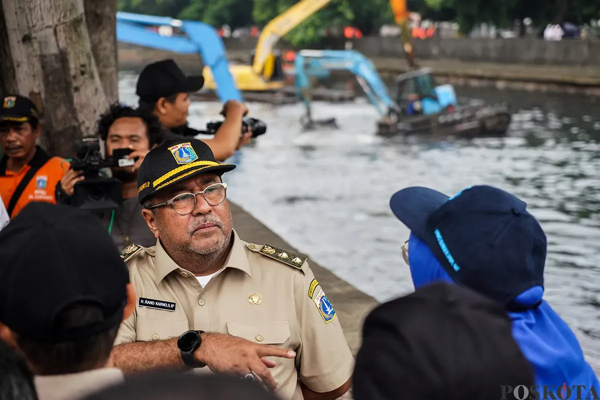
[[40, 400], [123, 380], [110, 352], [136, 293], [96, 216], [29, 203], [0, 232], [0, 260], [0, 339], [25, 356]]

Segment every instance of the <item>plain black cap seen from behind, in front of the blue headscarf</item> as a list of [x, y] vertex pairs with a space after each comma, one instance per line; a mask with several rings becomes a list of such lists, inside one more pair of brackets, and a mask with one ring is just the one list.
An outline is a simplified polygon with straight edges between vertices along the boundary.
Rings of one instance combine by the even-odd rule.
[[426, 285], [365, 318], [355, 400], [500, 399], [503, 385], [521, 384], [531, 387], [535, 378], [511, 319], [469, 288]]

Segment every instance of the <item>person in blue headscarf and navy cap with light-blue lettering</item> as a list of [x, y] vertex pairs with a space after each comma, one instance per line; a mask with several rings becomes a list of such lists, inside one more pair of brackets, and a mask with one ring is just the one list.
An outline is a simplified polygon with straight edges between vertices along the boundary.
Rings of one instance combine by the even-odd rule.
[[[410, 187], [390, 200], [394, 215], [411, 233], [402, 246], [415, 288], [454, 282], [496, 300], [512, 320], [512, 335], [535, 369], [536, 384], [566, 383], [562, 399], [600, 393], [574, 333], [544, 294], [547, 240], [527, 204], [491, 186], [455, 196]], [[566, 394], [571, 393], [569, 396]]]

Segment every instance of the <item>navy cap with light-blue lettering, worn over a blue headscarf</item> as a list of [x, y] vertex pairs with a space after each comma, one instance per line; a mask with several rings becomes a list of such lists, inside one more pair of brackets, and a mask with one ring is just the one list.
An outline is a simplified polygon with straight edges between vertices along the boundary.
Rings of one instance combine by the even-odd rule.
[[449, 197], [410, 187], [395, 193], [390, 207], [457, 284], [507, 307], [527, 289], [544, 287], [546, 236], [513, 194], [481, 185]]

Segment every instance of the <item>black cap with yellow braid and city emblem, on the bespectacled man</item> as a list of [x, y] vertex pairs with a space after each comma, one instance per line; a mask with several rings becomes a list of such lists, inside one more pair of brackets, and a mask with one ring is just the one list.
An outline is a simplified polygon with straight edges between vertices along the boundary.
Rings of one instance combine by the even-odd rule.
[[167, 139], [146, 154], [137, 172], [137, 198], [143, 204], [149, 196], [201, 173], [219, 176], [235, 169], [219, 164], [211, 148], [198, 139]]

